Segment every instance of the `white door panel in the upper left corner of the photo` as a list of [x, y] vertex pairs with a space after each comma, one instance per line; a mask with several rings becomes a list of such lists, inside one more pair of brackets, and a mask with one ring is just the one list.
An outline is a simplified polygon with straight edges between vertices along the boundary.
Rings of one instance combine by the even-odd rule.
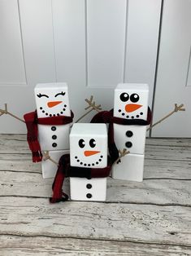
[[0, 85], [25, 84], [26, 77], [17, 0], [0, 1], [0, 38]]

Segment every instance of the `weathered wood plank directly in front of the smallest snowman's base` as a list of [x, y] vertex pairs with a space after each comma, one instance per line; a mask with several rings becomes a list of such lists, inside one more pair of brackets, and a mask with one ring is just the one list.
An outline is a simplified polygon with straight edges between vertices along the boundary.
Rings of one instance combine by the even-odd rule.
[[187, 245], [191, 241], [189, 207], [65, 202], [1, 197], [0, 234], [55, 236]]

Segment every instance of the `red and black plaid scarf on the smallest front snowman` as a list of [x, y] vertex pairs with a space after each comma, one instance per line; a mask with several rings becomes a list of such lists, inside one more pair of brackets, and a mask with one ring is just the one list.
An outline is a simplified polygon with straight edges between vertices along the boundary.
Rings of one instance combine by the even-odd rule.
[[52, 184], [53, 196], [50, 197], [50, 203], [59, 201], [67, 201], [68, 196], [63, 192], [63, 181], [65, 177], [78, 177], [78, 178], [106, 178], [111, 172], [111, 160], [107, 159], [107, 166], [105, 168], [85, 168], [70, 166], [70, 155], [65, 154], [59, 160], [59, 168]]

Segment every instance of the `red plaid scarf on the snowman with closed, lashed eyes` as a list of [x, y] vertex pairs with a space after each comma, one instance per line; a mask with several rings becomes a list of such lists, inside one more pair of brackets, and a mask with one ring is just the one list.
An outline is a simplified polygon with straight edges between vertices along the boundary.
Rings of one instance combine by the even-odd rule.
[[71, 111], [71, 117], [59, 116], [59, 117], [37, 117], [37, 110], [24, 115], [24, 121], [27, 126], [27, 140], [28, 146], [33, 154], [33, 162], [42, 160], [41, 146], [38, 142], [38, 130], [37, 125], [48, 126], [62, 126], [71, 123], [74, 114]]

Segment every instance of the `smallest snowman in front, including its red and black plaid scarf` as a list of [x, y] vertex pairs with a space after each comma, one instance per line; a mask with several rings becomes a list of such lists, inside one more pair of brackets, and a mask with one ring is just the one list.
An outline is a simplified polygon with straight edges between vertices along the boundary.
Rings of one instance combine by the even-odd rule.
[[107, 157], [105, 124], [78, 123], [70, 133], [70, 155], [60, 158], [50, 202], [67, 201], [63, 180], [70, 177], [70, 195], [74, 201], [106, 201], [106, 177], [111, 172]]

